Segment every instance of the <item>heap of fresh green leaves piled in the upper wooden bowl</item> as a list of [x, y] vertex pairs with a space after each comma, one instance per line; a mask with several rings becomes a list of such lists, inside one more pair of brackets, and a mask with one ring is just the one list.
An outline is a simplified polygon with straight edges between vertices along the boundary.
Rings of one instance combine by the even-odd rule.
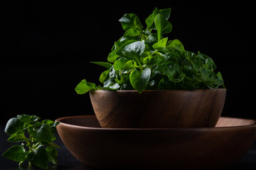
[[103, 86], [83, 79], [75, 88], [78, 94], [93, 89], [218, 89], [223, 77], [214, 72], [213, 60], [201, 52], [186, 51], [181, 41], [164, 38], [171, 33], [168, 21], [171, 8], [155, 8], [146, 18], [146, 27], [134, 13], [124, 14], [119, 21], [125, 31], [112, 47], [108, 62], [92, 62], [107, 70], [100, 75]]

